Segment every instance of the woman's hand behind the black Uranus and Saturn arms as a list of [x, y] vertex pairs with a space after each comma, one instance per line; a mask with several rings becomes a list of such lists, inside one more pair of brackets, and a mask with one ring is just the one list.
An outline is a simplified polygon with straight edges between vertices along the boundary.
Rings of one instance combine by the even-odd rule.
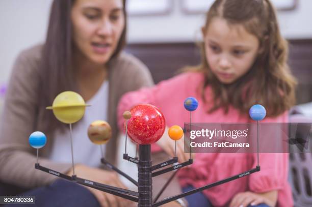
[[[79, 178], [88, 179], [98, 183], [126, 189], [126, 187], [119, 181], [118, 175], [115, 172], [78, 164], [75, 165], [75, 173]], [[72, 175], [72, 169], [67, 173], [67, 175]], [[126, 200], [124, 198], [105, 193], [94, 188], [86, 188], [90, 190], [90, 192], [96, 197], [102, 207], [127, 207], [133, 205], [132, 201]]]

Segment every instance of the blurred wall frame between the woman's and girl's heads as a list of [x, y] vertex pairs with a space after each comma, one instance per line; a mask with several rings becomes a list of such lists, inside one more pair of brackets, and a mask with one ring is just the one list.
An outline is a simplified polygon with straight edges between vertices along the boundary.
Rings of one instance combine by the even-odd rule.
[[129, 16], [167, 15], [172, 11], [173, 0], [127, 0]]

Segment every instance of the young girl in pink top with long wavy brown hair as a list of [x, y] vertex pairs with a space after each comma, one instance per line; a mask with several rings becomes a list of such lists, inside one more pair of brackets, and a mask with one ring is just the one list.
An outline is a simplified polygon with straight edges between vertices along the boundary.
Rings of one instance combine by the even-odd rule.
[[[202, 27], [201, 65], [123, 96], [118, 106], [122, 113], [139, 103], [160, 108], [167, 126], [188, 122], [183, 102], [193, 96], [199, 106], [193, 122], [251, 122], [249, 108], [262, 104], [267, 109], [263, 122], [287, 122], [294, 104], [295, 80], [287, 65], [287, 43], [281, 37], [275, 10], [269, 0], [216, 0]], [[173, 156], [167, 137], [159, 146]], [[178, 144], [180, 162], [188, 159], [183, 141]], [[260, 154], [261, 171], [242, 179], [187, 196], [190, 206], [293, 206], [288, 179], [287, 154]], [[256, 154], [196, 154], [189, 168], [178, 178], [183, 191], [220, 181], [256, 166]]]

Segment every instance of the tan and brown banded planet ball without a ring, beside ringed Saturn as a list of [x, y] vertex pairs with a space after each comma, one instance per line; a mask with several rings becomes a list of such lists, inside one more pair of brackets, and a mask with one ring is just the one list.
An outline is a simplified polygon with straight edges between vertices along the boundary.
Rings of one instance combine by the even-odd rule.
[[94, 144], [105, 144], [112, 137], [112, 128], [105, 121], [95, 121], [88, 128], [88, 137]]

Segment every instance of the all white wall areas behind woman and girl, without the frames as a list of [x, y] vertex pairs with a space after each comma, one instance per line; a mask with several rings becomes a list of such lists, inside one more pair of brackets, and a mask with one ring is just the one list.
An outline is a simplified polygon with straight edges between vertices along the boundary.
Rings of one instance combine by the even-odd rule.
[[[0, 0], [0, 85], [8, 81], [20, 50], [44, 41], [51, 1]], [[130, 17], [128, 42], [199, 39], [204, 14], [185, 15], [180, 9], [181, 0], [173, 1], [173, 9], [168, 15]], [[295, 11], [279, 13], [282, 34], [291, 39], [312, 38], [312, 1], [298, 1]]]

